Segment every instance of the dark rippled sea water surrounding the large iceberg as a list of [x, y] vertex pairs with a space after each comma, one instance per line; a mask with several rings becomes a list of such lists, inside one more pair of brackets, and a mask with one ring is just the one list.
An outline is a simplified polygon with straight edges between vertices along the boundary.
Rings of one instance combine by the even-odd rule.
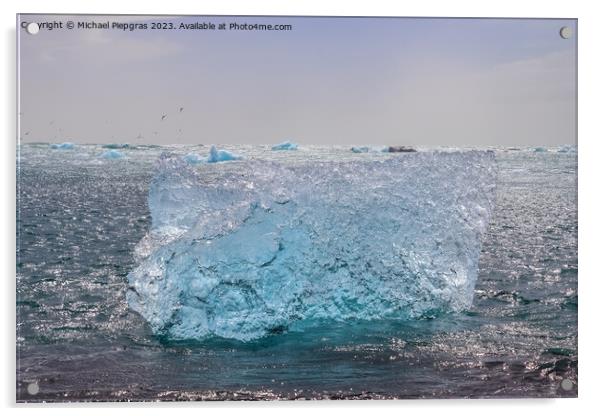
[[[282, 163], [404, 157], [226, 148]], [[577, 155], [557, 150], [494, 149], [496, 208], [469, 310], [174, 342], [128, 308], [127, 275], [150, 227], [156, 160], [209, 146], [139, 145], [106, 159], [95, 145], [21, 145], [17, 400], [574, 397]]]

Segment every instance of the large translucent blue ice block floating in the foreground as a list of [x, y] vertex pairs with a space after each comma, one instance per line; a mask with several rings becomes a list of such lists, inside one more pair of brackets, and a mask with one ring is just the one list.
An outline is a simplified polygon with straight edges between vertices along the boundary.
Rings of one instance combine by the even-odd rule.
[[236, 169], [162, 156], [129, 305], [169, 339], [242, 341], [466, 309], [495, 177], [478, 151]]

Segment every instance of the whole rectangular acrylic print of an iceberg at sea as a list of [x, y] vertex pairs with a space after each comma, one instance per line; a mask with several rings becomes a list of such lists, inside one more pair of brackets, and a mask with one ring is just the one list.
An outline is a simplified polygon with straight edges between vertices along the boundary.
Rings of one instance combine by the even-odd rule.
[[18, 401], [576, 396], [576, 21], [17, 30]]

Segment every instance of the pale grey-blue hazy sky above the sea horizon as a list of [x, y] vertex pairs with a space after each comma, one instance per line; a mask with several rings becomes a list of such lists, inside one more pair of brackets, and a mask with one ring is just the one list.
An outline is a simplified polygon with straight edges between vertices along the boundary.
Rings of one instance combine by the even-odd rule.
[[[24, 142], [558, 145], [576, 20], [32, 16], [290, 31], [18, 29]], [[570, 39], [560, 28], [573, 31]], [[183, 110], [180, 111], [180, 108]], [[167, 117], [161, 120], [162, 115]]]

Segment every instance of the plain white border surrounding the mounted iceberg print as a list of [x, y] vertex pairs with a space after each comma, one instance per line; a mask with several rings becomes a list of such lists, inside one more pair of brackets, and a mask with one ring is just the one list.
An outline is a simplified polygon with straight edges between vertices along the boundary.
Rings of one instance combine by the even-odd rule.
[[[145, 414], [161, 414], [168, 407], [178, 412], [235, 411], [261, 414], [307, 412], [326, 413], [337, 408], [346, 413], [363, 414], [369, 409], [379, 413], [477, 414], [555, 413], [580, 414], [596, 405], [602, 374], [600, 362], [600, 307], [602, 296], [597, 270], [598, 236], [601, 235], [601, 186], [598, 158], [602, 155], [600, 140], [600, 77], [602, 15], [596, 2], [576, 1], [420, 1], [390, 2], [379, 0], [306, 0], [306, 1], [180, 1], [146, 0], [135, 3], [125, 0], [21, 0], [0, 2], [3, 53], [2, 82], [2, 255], [5, 273], [2, 296], [2, 405], [26, 413], [42, 410], [51, 414], [126, 413], [132, 410]], [[15, 405], [15, 14], [29, 13], [132, 13], [132, 14], [267, 14], [267, 15], [346, 15], [346, 16], [448, 16], [448, 17], [557, 17], [579, 19], [579, 398], [553, 400], [419, 400], [398, 402], [319, 402], [319, 403], [175, 403], [133, 404], [124, 409], [121, 404], [104, 405]]]

